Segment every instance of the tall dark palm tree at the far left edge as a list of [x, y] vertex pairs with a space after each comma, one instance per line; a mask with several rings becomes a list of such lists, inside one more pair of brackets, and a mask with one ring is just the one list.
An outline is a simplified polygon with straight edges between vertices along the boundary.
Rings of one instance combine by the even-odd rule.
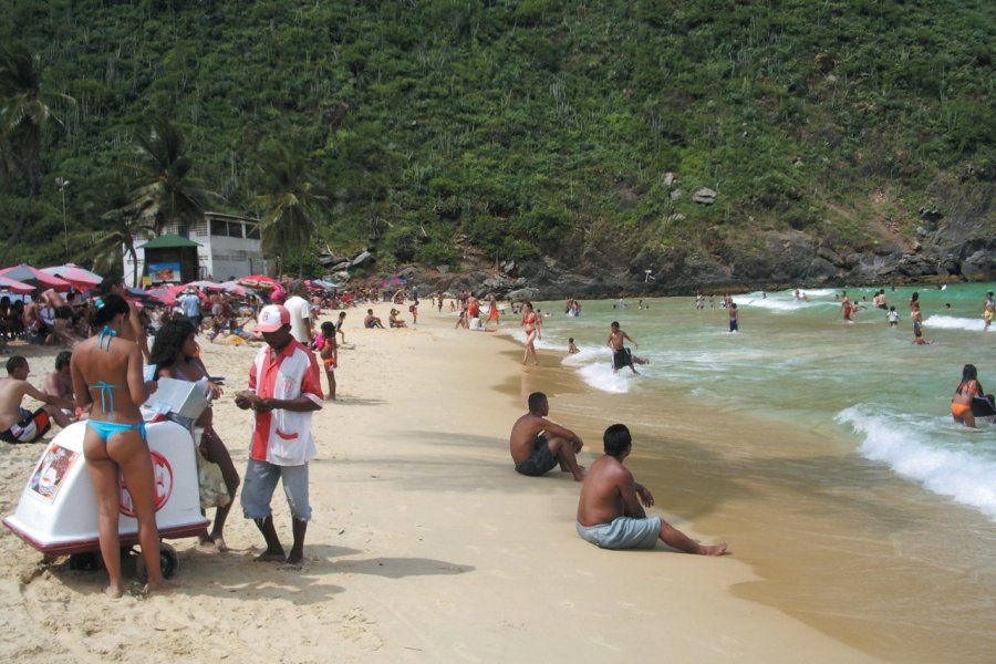
[[[42, 146], [49, 127], [60, 134], [65, 129], [53, 106], [76, 105], [69, 95], [44, 92], [41, 74], [41, 60], [25, 46], [0, 48], [0, 163], [23, 183], [22, 194], [29, 200], [41, 193]], [[8, 247], [18, 241], [27, 220], [25, 211], [17, 214]]]

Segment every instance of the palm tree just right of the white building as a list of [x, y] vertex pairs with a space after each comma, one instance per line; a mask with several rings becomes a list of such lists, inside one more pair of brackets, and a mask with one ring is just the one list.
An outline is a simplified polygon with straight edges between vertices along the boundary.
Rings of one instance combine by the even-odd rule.
[[272, 143], [261, 151], [261, 178], [253, 203], [262, 210], [260, 235], [263, 250], [297, 256], [298, 276], [303, 276], [304, 251], [325, 200], [321, 184], [308, 172], [304, 156], [283, 144]]

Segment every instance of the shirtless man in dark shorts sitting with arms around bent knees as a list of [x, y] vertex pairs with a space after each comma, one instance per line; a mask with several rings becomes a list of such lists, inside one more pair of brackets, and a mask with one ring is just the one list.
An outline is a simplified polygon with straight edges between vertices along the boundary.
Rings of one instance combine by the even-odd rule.
[[512, 425], [509, 450], [516, 463], [516, 473], [539, 477], [560, 463], [560, 469], [574, 479], [584, 479], [584, 468], [578, 465], [581, 437], [569, 428], [547, 419], [550, 404], [542, 392], [529, 395], [529, 412]]

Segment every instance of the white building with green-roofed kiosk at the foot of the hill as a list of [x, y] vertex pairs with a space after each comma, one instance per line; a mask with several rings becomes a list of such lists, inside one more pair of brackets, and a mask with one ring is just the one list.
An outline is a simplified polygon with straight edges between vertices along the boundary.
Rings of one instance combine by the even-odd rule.
[[[259, 220], [221, 212], [205, 212], [204, 219], [167, 226], [157, 238], [135, 238], [138, 276], [146, 283], [187, 283], [199, 279], [226, 281], [267, 273], [259, 238]], [[127, 252], [124, 273], [132, 274]]]

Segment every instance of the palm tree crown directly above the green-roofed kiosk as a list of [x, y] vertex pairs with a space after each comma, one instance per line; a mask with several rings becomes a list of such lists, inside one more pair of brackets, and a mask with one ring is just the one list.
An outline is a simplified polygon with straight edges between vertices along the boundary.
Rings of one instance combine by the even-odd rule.
[[186, 154], [186, 137], [172, 122], [156, 120], [136, 143], [135, 186], [124, 211], [156, 235], [172, 224], [184, 235], [183, 229], [204, 217], [207, 198], [215, 196], [190, 175], [194, 159]]

